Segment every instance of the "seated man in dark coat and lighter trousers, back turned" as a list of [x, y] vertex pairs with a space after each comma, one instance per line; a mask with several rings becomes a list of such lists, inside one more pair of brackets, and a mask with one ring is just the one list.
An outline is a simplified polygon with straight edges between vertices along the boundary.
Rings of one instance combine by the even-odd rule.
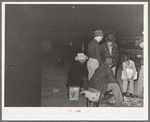
[[105, 63], [96, 69], [93, 77], [90, 80], [89, 87], [98, 90], [101, 92], [101, 94], [105, 94], [107, 91], [112, 90], [116, 101], [116, 106], [119, 106], [123, 101], [123, 96], [112, 69], [110, 68], [111, 65], [112, 59], [107, 58]]

